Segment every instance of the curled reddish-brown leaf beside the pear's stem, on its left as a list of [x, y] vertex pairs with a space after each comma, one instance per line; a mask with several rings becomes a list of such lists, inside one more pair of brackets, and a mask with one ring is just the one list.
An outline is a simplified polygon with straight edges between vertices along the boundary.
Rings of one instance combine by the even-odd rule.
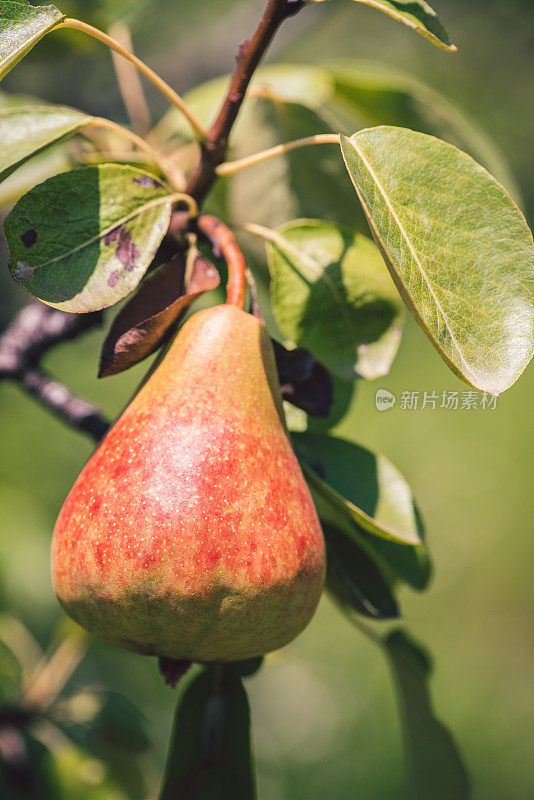
[[116, 375], [158, 349], [203, 292], [221, 282], [215, 266], [198, 254], [184, 286], [186, 256], [160, 267], [141, 284], [113, 321], [100, 359], [99, 377]]

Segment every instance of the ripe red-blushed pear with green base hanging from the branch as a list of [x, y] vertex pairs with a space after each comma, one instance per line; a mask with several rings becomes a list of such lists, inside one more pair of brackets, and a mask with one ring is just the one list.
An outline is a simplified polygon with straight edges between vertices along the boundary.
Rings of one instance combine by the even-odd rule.
[[138, 653], [240, 660], [308, 624], [323, 535], [256, 318], [185, 323], [76, 481], [52, 566], [66, 612]]

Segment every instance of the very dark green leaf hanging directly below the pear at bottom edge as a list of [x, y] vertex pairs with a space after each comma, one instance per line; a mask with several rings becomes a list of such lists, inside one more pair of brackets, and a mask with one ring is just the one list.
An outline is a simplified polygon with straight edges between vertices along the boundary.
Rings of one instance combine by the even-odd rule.
[[250, 710], [231, 666], [207, 667], [176, 710], [160, 800], [254, 800]]

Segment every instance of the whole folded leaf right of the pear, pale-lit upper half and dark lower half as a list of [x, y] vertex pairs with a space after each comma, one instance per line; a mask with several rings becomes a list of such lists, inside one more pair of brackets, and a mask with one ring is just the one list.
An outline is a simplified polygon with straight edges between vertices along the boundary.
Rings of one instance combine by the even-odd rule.
[[292, 441], [321, 522], [344, 532], [414, 589], [425, 588], [431, 570], [423, 525], [396, 467], [382, 455], [325, 434], [295, 433]]

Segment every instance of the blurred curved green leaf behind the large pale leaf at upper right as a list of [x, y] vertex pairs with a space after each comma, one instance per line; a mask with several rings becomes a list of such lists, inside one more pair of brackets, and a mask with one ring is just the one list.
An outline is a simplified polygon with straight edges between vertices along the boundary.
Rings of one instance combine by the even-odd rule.
[[397, 125], [438, 136], [472, 155], [520, 203], [519, 187], [498, 143], [448, 97], [391, 64], [343, 59], [325, 69], [334, 81], [329, 103], [342, 119], [343, 133]]

